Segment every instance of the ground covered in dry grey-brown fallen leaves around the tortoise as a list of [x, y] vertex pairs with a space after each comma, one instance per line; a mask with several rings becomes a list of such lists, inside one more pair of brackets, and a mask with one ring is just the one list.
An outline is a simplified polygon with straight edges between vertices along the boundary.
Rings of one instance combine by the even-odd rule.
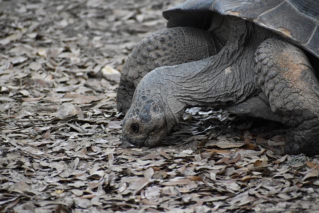
[[278, 124], [191, 108], [165, 146], [121, 142], [119, 71], [178, 2], [0, 0], [0, 212], [319, 211]]

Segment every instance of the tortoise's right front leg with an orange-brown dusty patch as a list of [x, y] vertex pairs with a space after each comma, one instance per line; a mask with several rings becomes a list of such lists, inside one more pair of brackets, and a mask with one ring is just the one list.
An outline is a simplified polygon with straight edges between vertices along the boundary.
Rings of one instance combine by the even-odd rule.
[[273, 112], [290, 126], [285, 152], [319, 154], [319, 82], [305, 52], [280, 38], [265, 40], [255, 54], [256, 84]]

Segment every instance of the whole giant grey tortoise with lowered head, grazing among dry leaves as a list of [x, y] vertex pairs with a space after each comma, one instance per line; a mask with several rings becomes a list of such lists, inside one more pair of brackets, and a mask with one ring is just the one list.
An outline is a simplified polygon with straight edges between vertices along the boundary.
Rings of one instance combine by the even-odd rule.
[[212, 106], [281, 122], [286, 153], [319, 154], [318, 0], [187, 0], [163, 16], [123, 67], [123, 140], [158, 145], [187, 107]]

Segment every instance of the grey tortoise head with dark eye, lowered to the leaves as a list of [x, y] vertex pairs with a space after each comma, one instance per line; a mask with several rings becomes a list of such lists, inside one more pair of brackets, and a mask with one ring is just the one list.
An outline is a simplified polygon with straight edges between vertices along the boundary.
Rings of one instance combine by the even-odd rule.
[[158, 145], [167, 135], [164, 104], [161, 98], [135, 94], [122, 127], [124, 141], [136, 146]]

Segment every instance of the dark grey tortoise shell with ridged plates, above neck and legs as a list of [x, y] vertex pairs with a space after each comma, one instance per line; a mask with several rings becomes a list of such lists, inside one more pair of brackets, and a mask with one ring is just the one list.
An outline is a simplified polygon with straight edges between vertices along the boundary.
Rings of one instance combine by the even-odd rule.
[[187, 0], [163, 16], [168, 27], [208, 29], [214, 12], [250, 20], [319, 58], [319, 0]]

